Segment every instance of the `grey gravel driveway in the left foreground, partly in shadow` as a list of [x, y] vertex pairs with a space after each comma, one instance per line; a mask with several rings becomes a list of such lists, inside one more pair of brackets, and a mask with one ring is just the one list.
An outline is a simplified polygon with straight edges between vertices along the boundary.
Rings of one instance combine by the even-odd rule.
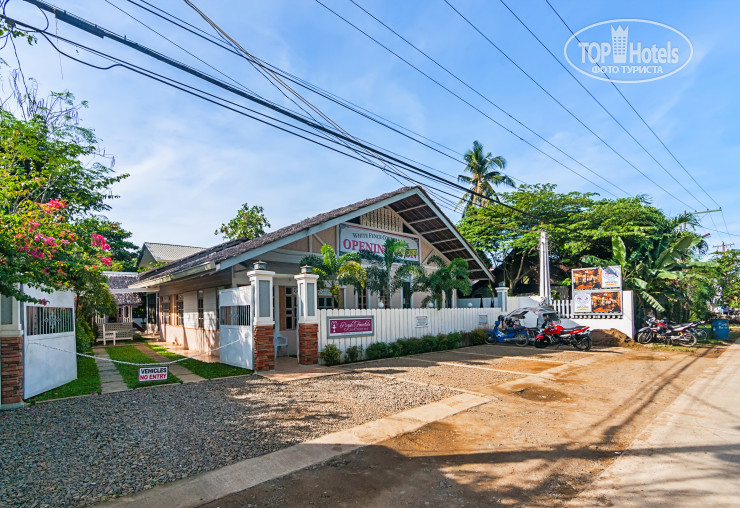
[[454, 395], [347, 373], [258, 376], [37, 404], [0, 414], [0, 506], [86, 506]]

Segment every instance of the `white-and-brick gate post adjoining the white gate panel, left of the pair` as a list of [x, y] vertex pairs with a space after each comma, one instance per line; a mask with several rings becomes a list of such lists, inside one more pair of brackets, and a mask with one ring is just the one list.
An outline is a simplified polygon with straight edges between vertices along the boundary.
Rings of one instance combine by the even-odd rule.
[[254, 370], [275, 370], [275, 319], [272, 312], [272, 279], [275, 272], [267, 270], [263, 261], [257, 261], [254, 270], [247, 275], [254, 295]]

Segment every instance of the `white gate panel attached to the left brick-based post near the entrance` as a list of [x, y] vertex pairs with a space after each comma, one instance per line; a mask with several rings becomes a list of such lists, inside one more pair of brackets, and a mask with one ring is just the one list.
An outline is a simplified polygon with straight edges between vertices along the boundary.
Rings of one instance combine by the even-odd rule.
[[221, 363], [254, 370], [252, 287], [223, 289], [218, 299]]

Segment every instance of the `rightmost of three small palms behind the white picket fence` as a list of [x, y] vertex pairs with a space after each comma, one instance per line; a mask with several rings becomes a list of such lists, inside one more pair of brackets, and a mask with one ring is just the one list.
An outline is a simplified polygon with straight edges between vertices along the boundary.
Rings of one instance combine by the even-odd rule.
[[416, 291], [429, 292], [429, 295], [422, 300], [422, 306], [433, 303], [437, 310], [440, 310], [444, 307], [445, 299], [448, 307], [452, 304], [453, 291], [460, 291], [466, 296], [470, 294], [473, 287], [470, 283], [467, 261], [455, 258], [448, 264], [435, 255], [429, 258], [429, 263], [436, 265], [437, 269], [421, 274], [414, 284]]

